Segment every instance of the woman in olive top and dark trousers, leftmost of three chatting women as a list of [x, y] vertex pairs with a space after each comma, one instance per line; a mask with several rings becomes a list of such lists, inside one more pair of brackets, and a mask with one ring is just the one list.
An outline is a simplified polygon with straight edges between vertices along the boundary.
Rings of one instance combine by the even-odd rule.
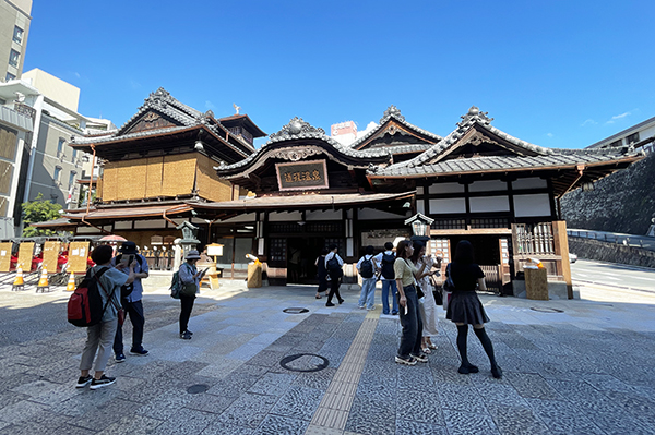
[[418, 309], [415, 277], [421, 277], [425, 265], [420, 269], [409, 261], [414, 254], [412, 241], [402, 240], [396, 247], [396, 259], [393, 264], [398, 287], [398, 307], [403, 335], [395, 362], [405, 365], [416, 365], [416, 362], [428, 362], [428, 357], [420, 349], [422, 321]]

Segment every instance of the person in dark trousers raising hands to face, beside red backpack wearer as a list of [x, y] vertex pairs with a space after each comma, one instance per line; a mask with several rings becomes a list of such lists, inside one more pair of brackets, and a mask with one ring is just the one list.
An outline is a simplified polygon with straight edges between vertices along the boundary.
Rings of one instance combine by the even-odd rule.
[[[133, 259], [132, 259], [133, 258]], [[130, 316], [132, 323], [132, 348], [130, 353], [133, 355], [145, 357], [147, 350], [143, 349], [143, 326], [145, 324], [145, 316], [143, 315], [143, 286], [141, 280], [148, 277], [147, 261], [145, 257], [136, 252], [136, 244], [134, 242], [123, 242], [120, 246], [120, 254], [117, 255], [111, 264], [119, 265], [128, 262], [135, 261], [134, 266], [134, 281], [121, 287], [120, 297], [121, 304], [126, 310], [126, 317]], [[122, 269], [127, 274], [127, 269]], [[116, 329], [116, 338], [114, 339], [114, 354], [116, 355], [116, 362], [121, 363], [126, 361], [122, 345], [122, 325], [118, 325]]]

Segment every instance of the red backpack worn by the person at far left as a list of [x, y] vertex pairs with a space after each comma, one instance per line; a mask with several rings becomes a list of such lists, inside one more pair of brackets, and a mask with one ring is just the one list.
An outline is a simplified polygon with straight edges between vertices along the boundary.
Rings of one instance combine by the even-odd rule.
[[[103, 306], [103, 298], [99, 289], [103, 285], [99, 279], [107, 270], [109, 270], [109, 267], [103, 267], [97, 274], [92, 275], [93, 269], [88, 269], [84, 280], [80, 282], [80, 286], [78, 286], [75, 292], [69, 299], [69, 323], [80, 327], [93, 326], [100, 323], [107, 305], [114, 297], [114, 294], [107, 294], [107, 303]], [[105, 289], [103, 288], [103, 290]]]

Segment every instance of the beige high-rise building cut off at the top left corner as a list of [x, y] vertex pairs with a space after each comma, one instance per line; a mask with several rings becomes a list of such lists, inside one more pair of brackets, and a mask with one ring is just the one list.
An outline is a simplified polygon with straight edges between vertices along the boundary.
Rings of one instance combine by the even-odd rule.
[[32, 0], [0, 0], [0, 81], [21, 77]]

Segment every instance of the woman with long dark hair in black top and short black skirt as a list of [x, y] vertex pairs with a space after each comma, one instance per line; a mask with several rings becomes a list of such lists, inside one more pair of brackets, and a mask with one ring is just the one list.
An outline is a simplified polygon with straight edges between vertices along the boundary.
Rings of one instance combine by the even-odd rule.
[[455, 290], [453, 291], [451, 302], [448, 305], [445, 318], [457, 325], [457, 350], [462, 358], [462, 365], [458, 372], [462, 374], [477, 373], [478, 367], [468, 362], [466, 355], [466, 338], [468, 336], [468, 325], [473, 325], [475, 335], [480, 340], [489, 362], [491, 363], [491, 375], [496, 378], [502, 377], [502, 370], [496, 362], [493, 355], [493, 345], [485, 330], [485, 323], [489, 322], [483, 303], [475, 292], [476, 286], [480, 290], [487, 290], [485, 285], [485, 273], [480, 266], [473, 262], [473, 245], [468, 240], [462, 240], [457, 243], [455, 250], [455, 259], [449, 265], [450, 276]]

